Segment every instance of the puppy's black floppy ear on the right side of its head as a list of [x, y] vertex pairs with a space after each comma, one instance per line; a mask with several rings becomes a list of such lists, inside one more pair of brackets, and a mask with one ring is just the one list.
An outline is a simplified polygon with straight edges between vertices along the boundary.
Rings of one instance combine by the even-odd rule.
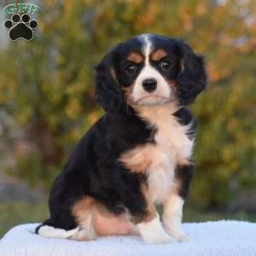
[[207, 72], [202, 55], [196, 55], [184, 42], [179, 42], [178, 46], [181, 61], [177, 76], [177, 96], [183, 105], [187, 105], [207, 87]]

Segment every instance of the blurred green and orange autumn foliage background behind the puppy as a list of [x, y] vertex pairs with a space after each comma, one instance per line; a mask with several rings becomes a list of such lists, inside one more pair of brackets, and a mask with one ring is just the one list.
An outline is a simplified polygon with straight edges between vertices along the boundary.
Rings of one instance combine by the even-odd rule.
[[184, 221], [256, 221], [256, 1], [26, 1], [40, 6], [31, 42], [9, 41], [2, 26], [13, 2], [0, 3], [0, 237], [47, 218], [51, 183], [102, 115], [94, 66], [145, 32], [206, 55], [209, 86], [191, 106], [200, 128]]

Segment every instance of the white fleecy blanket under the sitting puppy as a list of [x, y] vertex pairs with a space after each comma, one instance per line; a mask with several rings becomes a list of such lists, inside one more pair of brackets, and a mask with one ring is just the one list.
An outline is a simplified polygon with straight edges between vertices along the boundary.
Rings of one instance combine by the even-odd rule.
[[9, 230], [0, 241], [0, 256], [256, 256], [256, 224], [247, 222], [183, 224], [191, 241], [166, 245], [146, 245], [138, 236], [96, 241], [49, 239], [33, 234], [36, 225]]

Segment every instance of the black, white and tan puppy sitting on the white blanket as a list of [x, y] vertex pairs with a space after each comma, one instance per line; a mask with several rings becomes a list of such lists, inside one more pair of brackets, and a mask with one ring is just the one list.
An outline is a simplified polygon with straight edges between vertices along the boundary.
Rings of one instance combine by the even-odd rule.
[[[96, 67], [96, 97], [106, 113], [56, 178], [50, 218], [38, 234], [188, 240], [182, 212], [196, 121], [185, 106], [206, 85], [203, 58], [176, 38], [145, 34], [113, 48]], [[163, 224], [156, 205], [163, 206]]]

